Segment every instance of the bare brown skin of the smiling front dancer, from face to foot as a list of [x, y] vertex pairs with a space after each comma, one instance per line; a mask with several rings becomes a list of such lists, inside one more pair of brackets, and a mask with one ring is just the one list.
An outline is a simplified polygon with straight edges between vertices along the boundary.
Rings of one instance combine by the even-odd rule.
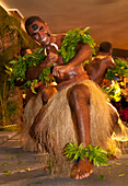
[[[34, 31], [32, 27], [34, 24], [38, 25], [38, 28], [36, 31]], [[58, 48], [60, 48], [60, 44], [65, 35], [53, 35], [47, 24], [46, 23], [44, 24], [39, 21], [35, 21], [32, 25], [27, 26], [27, 30], [28, 30], [28, 34], [38, 43], [40, 43], [42, 46], [45, 46], [48, 53], [53, 53], [53, 58], [56, 58], [54, 56], [54, 53], [56, 53], [55, 47], [51, 47], [50, 43], [57, 44]], [[56, 77], [56, 80], [59, 84], [62, 83], [65, 84], [65, 82], [70, 83], [71, 80], [72, 81], [74, 80], [75, 82], [75, 78], [81, 77], [84, 73], [82, 62], [89, 59], [91, 55], [92, 55], [92, 48], [86, 44], [79, 43], [77, 47], [77, 55], [68, 63], [65, 65], [62, 58], [58, 56], [58, 59], [56, 60], [58, 66], [54, 67], [53, 75]], [[42, 63], [40, 67], [37, 67], [38, 74], [43, 70], [44, 66], [47, 66], [47, 63], [48, 61], [46, 61], [45, 65]], [[42, 70], [39, 71], [39, 69]], [[32, 73], [30, 71], [32, 71]], [[35, 67], [34, 69], [31, 68], [27, 70], [26, 77], [33, 78], [33, 75], [35, 75], [33, 74], [33, 72], [35, 73]], [[86, 147], [90, 143], [89, 88], [83, 84], [73, 85], [68, 91], [68, 101], [71, 107], [72, 118], [78, 129], [79, 143], [83, 143], [83, 147]], [[38, 118], [42, 118], [42, 109], [38, 114]], [[35, 119], [30, 130], [30, 135], [32, 137], [35, 137], [34, 131], [35, 128], [38, 127], [38, 125], [39, 125], [39, 119]], [[90, 176], [92, 172], [93, 172], [93, 165], [89, 162], [89, 160], [80, 159], [80, 161], [77, 163], [75, 174], [73, 175], [73, 177], [77, 179], [81, 179]]]

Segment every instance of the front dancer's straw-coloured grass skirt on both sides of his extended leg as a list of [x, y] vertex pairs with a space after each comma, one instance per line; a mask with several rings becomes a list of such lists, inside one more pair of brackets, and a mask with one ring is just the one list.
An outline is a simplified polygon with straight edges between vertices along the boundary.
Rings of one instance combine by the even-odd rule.
[[[90, 121], [91, 143], [108, 147], [109, 131], [112, 130], [112, 116], [109, 105], [106, 103], [106, 95], [90, 80], [80, 82], [89, 86], [91, 93]], [[79, 83], [79, 84], [80, 84]], [[57, 156], [69, 142], [78, 143], [75, 126], [72, 121], [67, 92], [71, 86], [61, 90], [42, 108], [39, 124], [36, 127], [36, 138], [49, 153]]]

